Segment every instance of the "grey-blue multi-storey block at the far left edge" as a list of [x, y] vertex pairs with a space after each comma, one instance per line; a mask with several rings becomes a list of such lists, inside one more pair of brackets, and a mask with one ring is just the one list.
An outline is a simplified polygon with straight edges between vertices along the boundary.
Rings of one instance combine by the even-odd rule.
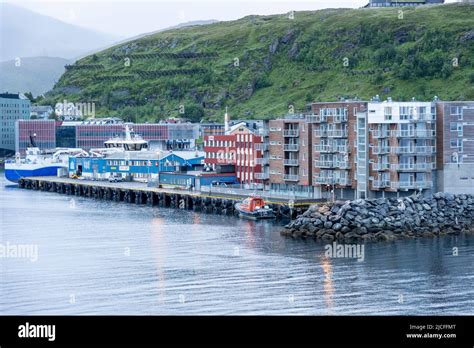
[[23, 94], [0, 94], [0, 156], [15, 152], [15, 123], [30, 118], [30, 100]]

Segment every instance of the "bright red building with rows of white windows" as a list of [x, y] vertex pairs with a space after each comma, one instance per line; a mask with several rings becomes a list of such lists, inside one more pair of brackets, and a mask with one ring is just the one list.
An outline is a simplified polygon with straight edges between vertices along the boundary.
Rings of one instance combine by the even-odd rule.
[[237, 180], [244, 185], [261, 185], [263, 167], [268, 163], [263, 156], [263, 137], [245, 126], [236, 125], [226, 135], [204, 137], [205, 163], [235, 165]]

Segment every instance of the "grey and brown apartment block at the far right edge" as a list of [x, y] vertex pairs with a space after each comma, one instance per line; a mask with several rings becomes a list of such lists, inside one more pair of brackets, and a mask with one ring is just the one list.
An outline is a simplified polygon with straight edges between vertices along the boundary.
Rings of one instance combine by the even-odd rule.
[[474, 194], [474, 101], [438, 101], [438, 191]]

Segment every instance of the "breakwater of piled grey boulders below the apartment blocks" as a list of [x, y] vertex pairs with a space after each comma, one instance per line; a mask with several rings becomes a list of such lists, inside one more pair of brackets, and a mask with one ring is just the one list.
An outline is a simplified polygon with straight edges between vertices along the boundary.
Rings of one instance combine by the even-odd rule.
[[474, 232], [474, 195], [358, 199], [313, 205], [282, 235], [325, 241], [377, 241]]

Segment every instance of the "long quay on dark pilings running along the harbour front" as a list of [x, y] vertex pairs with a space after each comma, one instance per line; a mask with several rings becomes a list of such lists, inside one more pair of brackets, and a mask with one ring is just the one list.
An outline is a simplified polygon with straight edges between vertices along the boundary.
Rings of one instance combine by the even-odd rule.
[[[237, 215], [234, 204], [248, 195], [240, 190], [211, 188], [210, 192], [191, 191], [178, 188], [150, 187], [141, 182], [107, 182], [79, 180], [60, 177], [25, 177], [18, 181], [22, 189], [56, 192], [70, 196], [170, 207], [200, 211], [209, 214]], [[251, 191], [249, 191], [251, 192]], [[302, 199], [261, 195], [277, 218], [295, 218], [321, 199]]]

